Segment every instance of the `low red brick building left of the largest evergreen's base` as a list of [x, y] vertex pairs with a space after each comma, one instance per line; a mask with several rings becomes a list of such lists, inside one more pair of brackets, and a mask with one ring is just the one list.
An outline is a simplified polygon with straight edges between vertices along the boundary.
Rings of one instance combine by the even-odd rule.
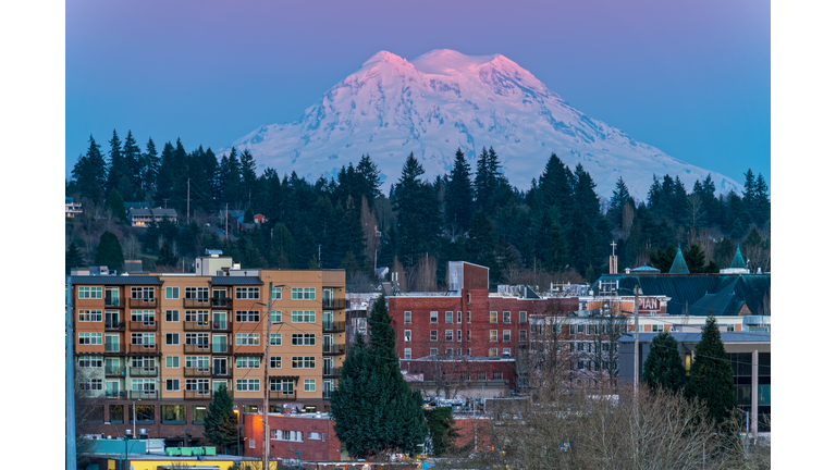
[[[340, 441], [334, 422], [328, 413], [268, 413], [270, 425], [270, 459], [302, 459], [307, 461], [340, 460]], [[263, 455], [263, 420], [258, 413], [244, 413], [244, 455]]]

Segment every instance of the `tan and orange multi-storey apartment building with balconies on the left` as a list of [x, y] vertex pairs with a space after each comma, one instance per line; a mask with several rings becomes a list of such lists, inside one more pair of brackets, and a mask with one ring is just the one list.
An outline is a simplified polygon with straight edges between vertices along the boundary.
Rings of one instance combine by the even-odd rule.
[[265, 392], [273, 412], [329, 410], [345, 355], [345, 272], [223, 274], [72, 277], [78, 393], [95, 398], [99, 432], [133, 430], [136, 411], [137, 433], [198, 440], [222, 385], [245, 412]]

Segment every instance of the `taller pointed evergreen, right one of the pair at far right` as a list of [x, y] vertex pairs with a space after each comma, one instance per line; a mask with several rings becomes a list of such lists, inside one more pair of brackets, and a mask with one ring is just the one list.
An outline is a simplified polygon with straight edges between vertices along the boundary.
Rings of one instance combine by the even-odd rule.
[[709, 418], [716, 424], [723, 424], [732, 418], [737, 399], [732, 364], [720, 338], [720, 329], [713, 312], [710, 312], [702, 329], [702, 338], [694, 351], [697, 357], [691, 364], [685, 394], [701, 399], [708, 408]]

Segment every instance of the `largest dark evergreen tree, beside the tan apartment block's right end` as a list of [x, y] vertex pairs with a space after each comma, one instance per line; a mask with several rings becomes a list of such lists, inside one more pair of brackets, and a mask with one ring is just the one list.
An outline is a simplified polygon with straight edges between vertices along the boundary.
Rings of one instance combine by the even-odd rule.
[[355, 458], [415, 454], [429, 431], [420, 392], [411, 392], [401, 373], [385, 302], [383, 296], [374, 302], [369, 344], [357, 336], [331, 396], [334, 431]]

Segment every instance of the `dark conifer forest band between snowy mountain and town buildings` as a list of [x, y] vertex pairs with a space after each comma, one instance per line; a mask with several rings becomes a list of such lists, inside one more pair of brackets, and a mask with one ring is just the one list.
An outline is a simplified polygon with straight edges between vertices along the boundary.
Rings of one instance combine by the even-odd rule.
[[[458, 149], [452, 170], [434, 178], [410, 153], [385, 195], [368, 154], [335, 177], [307, 181], [295, 172], [280, 175], [281, 169], [258, 174], [246, 149], [232, 148], [219, 159], [202, 146], [186, 151], [180, 139], [161, 150], [152, 138], [142, 147], [130, 131], [124, 141], [113, 131], [106, 151], [90, 136], [66, 195], [121, 223], [125, 201], [176, 209], [176, 226], [110, 230], [123, 244], [135, 237], [139, 255], [162, 265], [220, 248], [245, 268], [344, 268], [349, 284], [368, 285], [374, 267], [389, 267], [403, 272], [401, 288], [434, 290], [444, 284], [450, 260], [491, 268], [492, 282], [526, 282], [532, 273], [591, 281], [606, 271], [616, 240], [620, 269], [650, 263], [667, 271], [667, 255], [680, 245], [692, 272], [715, 272], [728, 265], [737, 244], [769, 269], [769, 187], [751, 170], [741, 195], [717, 196], [711, 175], [690, 193], [678, 176], [654, 175], [647, 200], [630, 195], [620, 178], [612, 196], [602, 198], [580, 163], [573, 169], [557, 154], [529, 188], [519, 189], [508, 183], [493, 148], [483, 148], [476, 162]], [[218, 215], [228, 205], [245, 210], [245, 222], [257, 213], [269, 221], [226, 239]], [[82, 258], [86, 252], [93, 261], [84, 237], [67, 231], [67, 246], [75, 244], [67, 258], [76, 262], [82, 248]]]

